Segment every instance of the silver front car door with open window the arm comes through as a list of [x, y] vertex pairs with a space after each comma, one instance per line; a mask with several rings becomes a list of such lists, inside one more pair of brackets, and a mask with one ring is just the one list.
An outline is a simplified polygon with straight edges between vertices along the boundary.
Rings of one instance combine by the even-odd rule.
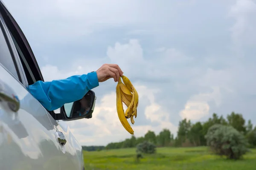
[[[1, 10], [1, 8], [0, 8]], [[32, 49], [29, 46], [29, 43], [26, 40], [25, 35], [21, 31], [20, 27], [15, 22], [12, 15], [7, 11], [7, 9], [2, 10], [5, 19], [5, 23], [12, 40], [10, 42], [13, 44], [13, 53], [17, 54], [17, 65], [20, 65], [20, 72], [23, 73], [21, 79], [24, 77], [23, 85], [27, 87], [28, 85], [33, 84], [38, 80], [44, 81], [41, 71], [38, 67]], [[55, 120], [52, 115], [55, 115], [53, 111], [47, 111], [44, 108], [41, 108], [47, 112], [49, 118], [48, 122], [52, 125], [50, 133], [56, 134], [57, 138], [60, 139], [58, 142], [55, 140], [55, 144], [59, 147], [59, 163], [61, 170], [82, 170], [84, 161], [82, 148], [79, 142], [75, 139], [71, 133], [67, 123], [61, 120]], [[62, 138], [62, 139], [61, 139]], [[65, 142], [63, 142], [64, 140]], [[54, 151], [54, 150], [53, 150]], [[54, 155], [56, 153], [53, 153]]]

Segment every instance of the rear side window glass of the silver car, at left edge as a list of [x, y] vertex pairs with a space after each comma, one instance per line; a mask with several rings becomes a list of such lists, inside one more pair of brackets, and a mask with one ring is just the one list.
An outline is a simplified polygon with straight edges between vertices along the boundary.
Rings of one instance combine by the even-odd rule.
[[13, 57], [10, 53], [10, 48], [7, 44], [6, 33], [3, 31], [3, 24], [0, 20], [0, 63], [17, 79], [18, 74], [15, 67], [15, 63], [13, 61]]

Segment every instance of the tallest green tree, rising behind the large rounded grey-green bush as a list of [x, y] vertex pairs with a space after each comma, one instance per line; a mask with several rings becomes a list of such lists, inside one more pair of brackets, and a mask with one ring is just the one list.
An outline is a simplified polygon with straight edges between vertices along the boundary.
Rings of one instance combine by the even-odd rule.
[[242, 114], [232, 112], [230, 115], [227, 115], [227, 121], [229, 125], [233, 126], [239, 132], [246, 133], [245, 120]]

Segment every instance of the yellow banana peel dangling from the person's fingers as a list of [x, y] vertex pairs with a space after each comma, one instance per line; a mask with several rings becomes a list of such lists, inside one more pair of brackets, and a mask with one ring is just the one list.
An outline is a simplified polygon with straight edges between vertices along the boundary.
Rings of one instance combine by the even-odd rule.
[[[122, 82], [122, 80], [123, 82]], [[131, 119], [131, 123], [134, 124], [134, 116], [137, 117], [137, 107], [139, 105], [139, 95], [132, 85], [131, 81], [122, 76], [116, 85], [116, 111], [120, 122], [122, 123], [125, 130], [127, 130], [132, 135], [134, 130], [128, 123], [127, 119]], [[126, 111], [124, 111], [123, 103], [127, 106]]]

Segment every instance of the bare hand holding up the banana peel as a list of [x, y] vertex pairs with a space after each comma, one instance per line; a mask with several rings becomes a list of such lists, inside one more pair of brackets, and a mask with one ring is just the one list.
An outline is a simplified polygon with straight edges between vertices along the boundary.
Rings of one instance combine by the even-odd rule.
[[121, 68], [117, 64], [103, 64], [97, 71], [99, 82], [113, 78], [115, 82], [119, 81], [120, 76], [123, 75]]

